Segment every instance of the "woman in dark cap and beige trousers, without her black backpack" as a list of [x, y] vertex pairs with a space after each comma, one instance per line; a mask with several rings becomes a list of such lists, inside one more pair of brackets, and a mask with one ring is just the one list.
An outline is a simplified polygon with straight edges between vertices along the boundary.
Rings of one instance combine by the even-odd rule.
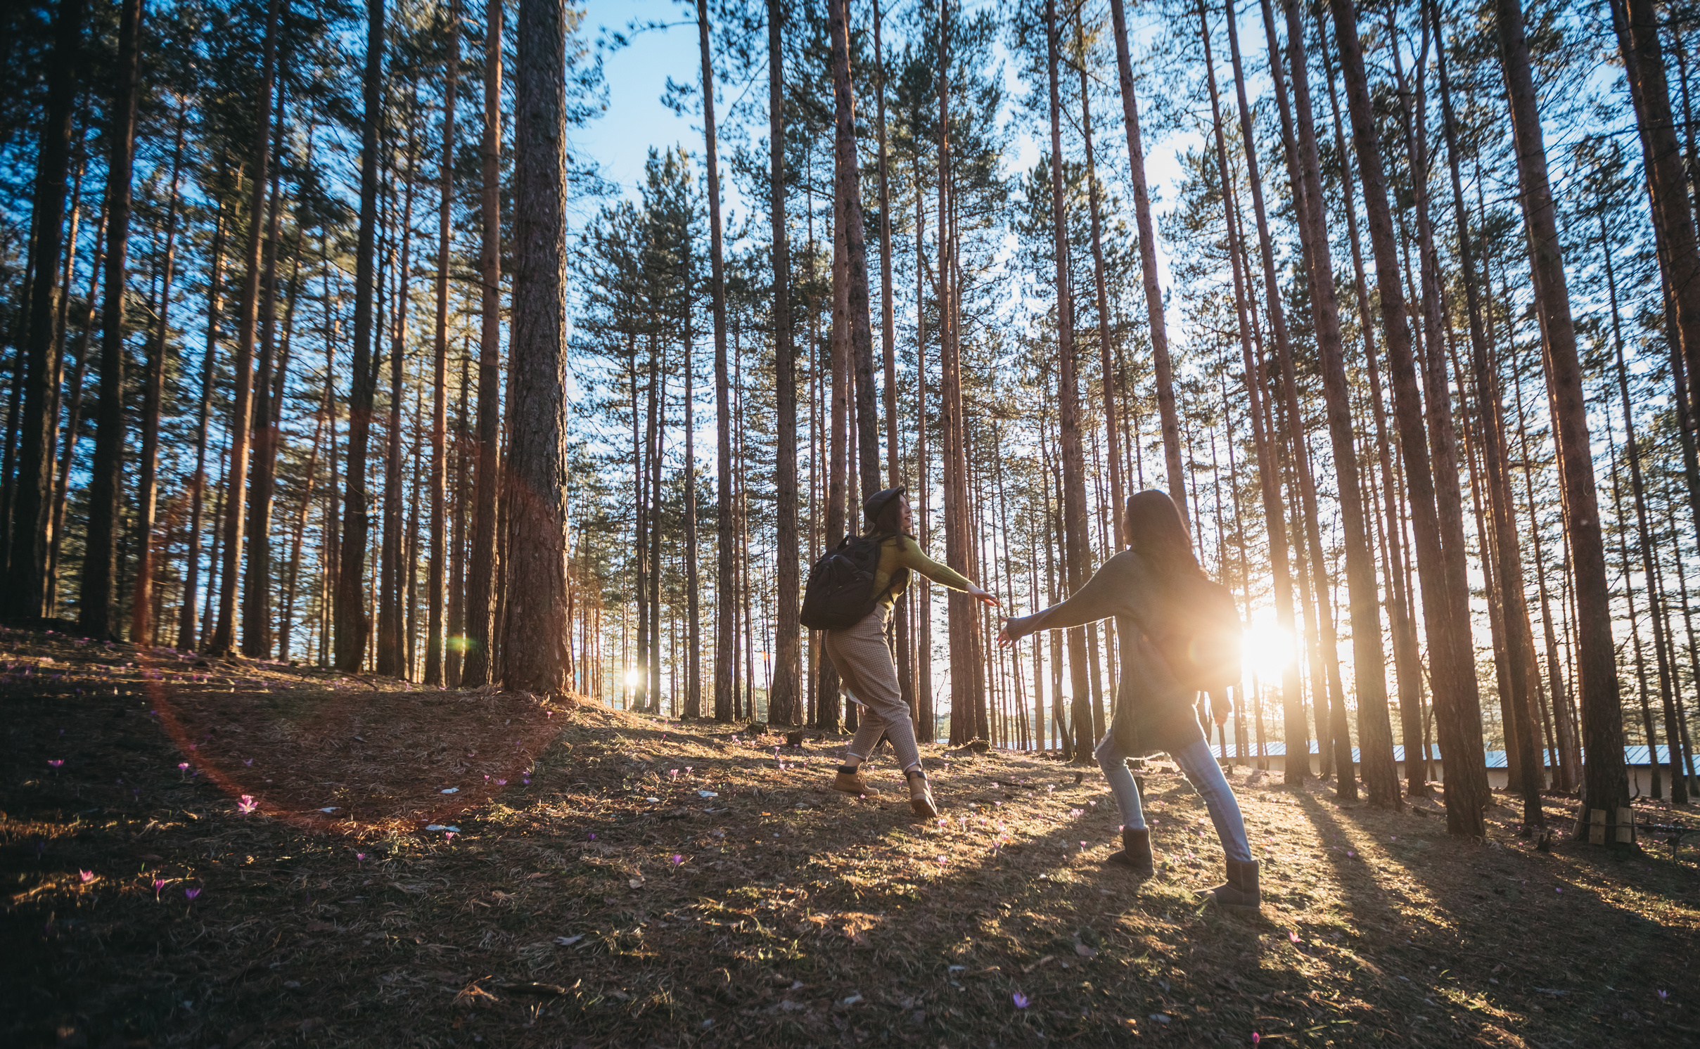
[[898, 751], [903, 775], [910, 782], [910, 808], [918, 816], [937, 816], [938, 808], [933, 804], [926, 772], [921, 770], [921, 751], [915, 743], [910, 706], [898, 690], [898, 665], [891, 658], [891, 648], [886, 646], [886, 622], [898, 595], [910, 585], [911, 571], [940, 587], [962, 590], [988, 605], [996, 605], [998, 598], [921, 553], [921, 546], [910, 536], [915, 517], [904, 491], [904, 488], [887, 488], [862, 502], [864, 530], [869, 536], [887, 536], [881, 542], [879, 568], [874, 573], [874, 593], [881, 595], [879, 604], [853, 627], [826, 631], [826, 656], [838, 668], [838, 680], [865, 707], [855, 738], [845, 750], [845, 763], [838, 767], [833, 789], [872, 794], [874, 789], [862, 779], [860, 765], [879, 746], [879, 738], [886, 736]]

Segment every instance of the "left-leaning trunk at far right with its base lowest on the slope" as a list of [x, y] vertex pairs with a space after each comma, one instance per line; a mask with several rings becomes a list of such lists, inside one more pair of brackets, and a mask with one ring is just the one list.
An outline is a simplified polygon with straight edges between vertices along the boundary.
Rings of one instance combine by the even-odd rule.
[[[1334, 0], [1336, 5], [1341, 2], [1350, 0]], [[1554, 406], [1564, 532], [1576, 588], [1576, 690], [1581, 697], [1581, 743], [1588, 753], [1581, 808], [1583, 814], [1605, 809], [1606, 818], [1615, 819], [1618, 806], [1629, 804], [1629, 772], [1624, 763], [1624, 721], [1612, 641], [1612, 592], [1605, 575], [1605, 539], [1600, 530], [1593, 451], [1588, 444], [1588, 405], [1576, 352], [1576, 326], [1571, 320], [1571, 294], [1547, 180], [1545, 141], [1535, 109], [1535, 82], [1520, 0], [1498, 0], [1498, 29], [1535, 309], [1542, 321], [1547, 391]], [[1450, 768], [1447, 772], [1450, 779]], [[1448, 809], [1450, 796], [1448, 784]], [[1576, 835], [1578, 840], [1588, 835], [1588, 819], [1576, 821]], [[1615, 835], [1608, 835], [1608, 843], [1610, 838]]]

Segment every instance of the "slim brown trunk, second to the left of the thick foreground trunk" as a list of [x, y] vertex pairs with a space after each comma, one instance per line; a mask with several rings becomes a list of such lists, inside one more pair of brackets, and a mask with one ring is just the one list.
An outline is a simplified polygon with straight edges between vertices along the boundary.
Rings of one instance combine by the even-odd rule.
[[454, 219], [454, 102], [461, 75], [461, 0], [449, 3], [449, 49], [442, 88], [442, 175], [437, 211], [437, 345], [432, 371], [430, 415], [430, 576], [425, 583], [430, 612], [425, 622], [425, 683], [444, 683], [442, 612], [447, 568], [447, 468], [444, 440], [449, 430], [449, 224]]

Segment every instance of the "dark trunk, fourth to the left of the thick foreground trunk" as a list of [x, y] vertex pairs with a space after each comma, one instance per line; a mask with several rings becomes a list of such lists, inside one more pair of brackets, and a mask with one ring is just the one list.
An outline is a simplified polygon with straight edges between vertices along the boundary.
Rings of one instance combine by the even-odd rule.
[[[274, 0], [275, 3], [275, 0]], [[491, 5], [500, 19], [502, 5]], [[348, 388], [348, 471], [343, 479], [342, 542], [337, 573], [337, 670], [359, 673], [372, 622], [366, 610], [366, 547], [371, 529], [366, 451], [372, 430], [372, 270], [377, 235], [377, 133], [384, 119], [384, 0], [372, 0], [366, 22], [366, 73], [360, 124], [360, 231], [354, 255], [354, 360]], [[483, 683], [483, 682], [479, 682]]]

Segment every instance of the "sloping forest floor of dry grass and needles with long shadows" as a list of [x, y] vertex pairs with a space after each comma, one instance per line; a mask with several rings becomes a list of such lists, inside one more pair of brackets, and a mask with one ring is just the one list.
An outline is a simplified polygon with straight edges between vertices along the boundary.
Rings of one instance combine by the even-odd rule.
[[1700, 852], [1508, 796], [1469, 843], [1236, 768], [1234, 915], [1161, 762], [1141, 881], [1030, 755], [925, 748], [916, 821], [833, 738], [17, 631], [0, 704], [5, 1046], [1700, 1044]]

